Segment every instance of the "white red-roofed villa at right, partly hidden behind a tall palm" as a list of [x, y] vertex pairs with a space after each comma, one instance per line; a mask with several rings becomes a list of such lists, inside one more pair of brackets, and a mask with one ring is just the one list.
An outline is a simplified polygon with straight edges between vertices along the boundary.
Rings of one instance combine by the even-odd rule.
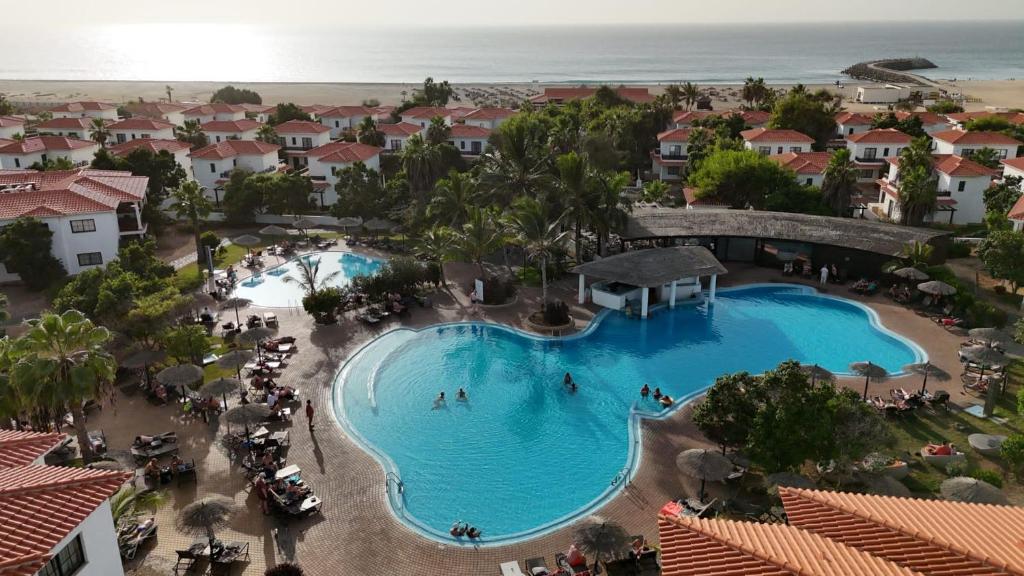
[[[899, 158], [892, 158], [889, 163], [888, 175], [879, 181], [879, 207], [890, 219], [898, 220]], [[952, 155], [936, 155], [933, 169], [939, 179], [938, 210], [926, 216], [926, 221], [951, 224], [984, 221], [985, 191], [992, 184], [997, 171]]]

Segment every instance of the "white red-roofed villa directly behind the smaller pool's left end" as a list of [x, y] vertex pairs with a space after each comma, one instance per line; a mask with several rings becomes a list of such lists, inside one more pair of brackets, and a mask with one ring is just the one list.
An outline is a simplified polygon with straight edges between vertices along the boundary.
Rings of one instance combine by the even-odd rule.
[[221, 191], [236, 168], [250, 172], [273, 172], [281, 161], [281, 147], [259, 140], [223, 140], [191, 153], [196, 181], [206, 191], [206, 197], [220, 206]]

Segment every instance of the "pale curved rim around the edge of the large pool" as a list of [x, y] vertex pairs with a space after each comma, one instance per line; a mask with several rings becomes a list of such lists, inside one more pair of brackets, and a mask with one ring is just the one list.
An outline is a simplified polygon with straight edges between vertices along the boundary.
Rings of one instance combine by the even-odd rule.
[[[799, 290], [798, 294], [801, 295], [813, 295], [822, 298], [828, 298], [831, 300], [837, 300], [847, 304], [852, 304], [865, 313], [871, 327], [898, 340], [899, 342], [906, 345], [909, 349], [911, 349], [914, 354], [914, 359], [918, 362], [925, 362], [928, 360], [928, 353], [920, 344], [918, 344], [914, 340], [886, 327], [882, 323], [882, 319], [878, 314], [878, 312], [874, 311], [869, 305], [863, 302], [852, 300], [850, 298], [845, 298], [843, 296], [822, 293], [813, 286], [807, 286], [804, 284], [785, 284], [785, 283], [753, 283], [753, 284], [742, 284], [738, 286], [721, 288], [717, 290], [717, 293], [721, 294], [721, 293], [733, 292], [738, 290], [748, 290], [754, 288], [795, 288]], [[708, 302], [706, 299], [706, 301], [702, 304], [698, 305], [713, 305], [713, 303]], [[651, 307], [651, 310], [657, 310], [665, 306], [667, 306], [667, 304], [659, 303]], [[370, 346], [372, 346], [373, 344], [377, 343], [379, 340], [390, 334], [396, 332], [419, 333], [427, 330], [434, 330], [437, 328], [443, 328], [450, 326], [482, 326], [487, 328], [497, 328], [536, 341], [573, 340], [586, 337], [591, 332], [596, 330], [597, 327], [604, 320], [604, 318], [613, 312], [614, 311], [607, 308], [599, 311], [596, 315], [594, 315], [594, 318], [583, 330], [573, 334], [569, 334], [567, 336], [546, 336], [542, 334], [527, 332], [515, 326], [510, 326], [507, 324], [499, 324], [495, 322], [484, 322], [479, 320], [454, 321], [454, 322], [441, 322], [438, 324], [431, 324], [429, 326], [423, 326], [420, 328], [412, 328], [404, 326], [394, 327], [384, 332], [381, 332], [380, 334], [371, 338], [362, 345], [360, 345], [358, 348], [356, 348], [345, 360], [345, 362], [339, 368], [337, 374], [335, 374], [334, 380], [332, 381], [331, 384], [331, 390], [332, 390], [331, 408], [335, 421], [338, 423], [339, 427], [341, 427], [342, 430], [345, 431], [345, 434], [348, 435], [348, 437], [360, 449], [362, 449], [366, 453], [370, 454], [370, 456], [373, 457], [375, 460], [377, 460], [377, 463], [380, 464], [383, 471], [383, 477], [384, 477], [383, 480], [385, 482], [384, 490], [387, 496], [388, 508], [390, 509], [391, 515], [396, 520], [398, 520], [399, 523], [404, 525], [406, 528], [411, 530], [414, 534], [417, 534], [431, 541], [438, 542], [444, 545], [460, 546], [460, 547], [467, 547], [467, 546], [496, 547], [496, 546], [511, 545], [551, 534], [602, 508], [611, 500], [613, 500], [616, 496], [618, 496], [620, 493], [622, 493], [622, 491], [626, 488], [626, 486], [628, 486], [633, 481], [633, 479], [636, 478], [636, 475], [639, 472], [640, 464], [642, 462], [642, 453], [643, 453], [642, 425], [644, 420], [658, 421], [658, 420], [666, 420], [674, 416], [679, 410], [689, 405], [695, 399], [703, 396], [703, 394], [708, 390], [709, 387], [711, 387], [711, 385], [714, 384], [714, 382], [706, 386], [701, 386], [698, 389], [686, 395], [685, 397], [682, 397], [673, 406], [666, 408], [665, 410], [662, 410], [659, 412], [639, 410], [637, 409], [636, 404], [634, 403], [634, 405], [630, 408], [630, 415], [629, 415], [629, 425], [628, 425], [629, 447], [627, 452], [627, 462], [626, 465], [623, 466], [620, 474], [616, 475], [615, 477], [615, 480], [618, 480], [620, 478], [622, 480], [617, 483], [615, 481], [612, 481], [612, 483], [608, 486], [608, 488], [606, 488], [603, 492], [601, 492], [601, 494], [599, 494], [597, 497], [595, 497], [593, 500], [591, 500], [584, 506], [569, 513], [563, 515], [555, 520], [552, 520], [542, 526], [532, 528], [530, 530], [504, 535], [497, 539], [483, 538], [479, 540], [469, 540], [469, 539], [455, 539], [446, 532], [441, 532], [431, 528], [430, 526], [427, 526], [425, 523], [421, 522], [415, 516], [406, 511], [404, 507], [400, 504], [402, 500], [401, 494], [395, 494], [394, 493], [395, 491], [391, 489], [391, 485], [387, 480], [388, 475], [393, 474], [400, 481], [401, 475], [399, 474], [398, 466], [394, 463], [394, 461], [391, 460], [391, 458], [387, 454], [385, 454], [381, 450], [378, 450], [376, 446], [374, 446], [370, 441], [364, 438], [362, 435], [360, 435], [358, 430], [356, 430], [355, 427], [350, 424], [348, 418], [344, 414], [344, 409], [342, 407], [342, 400], [344, 397], [343, 394], [344, 387], [345, 384], [347, 383], [344, 376], [347, 373], [347, 371], [351, 368], [352, 360], [357, 358], [364, 351], [366, 351], [367, 348], [369, 348]], [[836, 373], [836, 375], [849, 376], [849, 377], [856, 376], [856, 374], [852, 374], [849, 372], [839, 372]], [[906, 375], [906, 372], [900, 371], [891, 374], [891, 376], [893, 377], [899, 377], [903, 375]], [[338, 385], [339, 382], [341, 385]]]

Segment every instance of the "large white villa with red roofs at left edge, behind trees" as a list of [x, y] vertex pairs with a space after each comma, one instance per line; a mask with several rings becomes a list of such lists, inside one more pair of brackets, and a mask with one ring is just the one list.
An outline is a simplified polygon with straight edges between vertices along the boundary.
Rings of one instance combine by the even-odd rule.
[[[121, 239], [144, 236], [141, 211], [150, 178], [129, 172], [0, 170], [0, 228], [20, 217], [53, 233], [53, 255], [69, 274], [116, 258]], [[0, 263], [0, 282], [17, 280]]]

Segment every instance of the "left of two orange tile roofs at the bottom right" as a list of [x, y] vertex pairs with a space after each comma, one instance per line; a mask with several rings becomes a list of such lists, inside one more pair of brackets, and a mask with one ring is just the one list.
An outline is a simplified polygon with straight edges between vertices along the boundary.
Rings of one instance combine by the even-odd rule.
[[[674, 507], [675, 506], [675, 507]], [[658, 516], [663, 576], [911, 576], [892, 562], [783, 524]]]

